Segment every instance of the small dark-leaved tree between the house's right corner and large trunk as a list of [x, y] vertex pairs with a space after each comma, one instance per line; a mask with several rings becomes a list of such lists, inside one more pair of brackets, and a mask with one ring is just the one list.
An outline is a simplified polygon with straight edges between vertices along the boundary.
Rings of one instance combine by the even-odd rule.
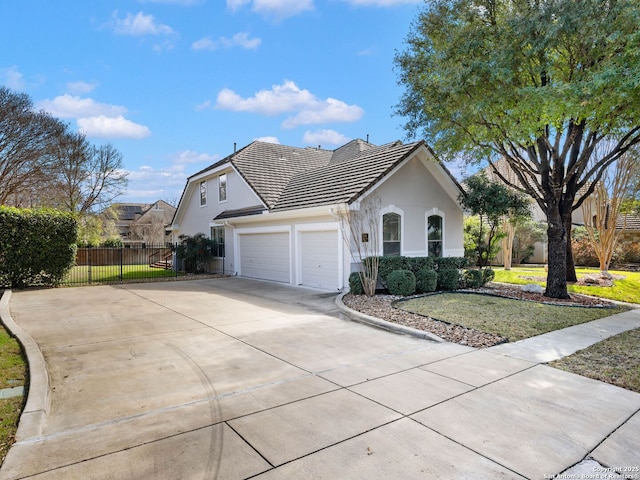
[[[460, 204], [472, 215], [480, 218], [476, 250], [478, 266], [489, 265], [497, 252], [497, 242], [504, 236], [500, 225], [504, 217], [531, 216], [529, 202], [524, 196], [497, 182], [492, 182], [486, 175], [478, 174], [466, 180], [465, 193], [459, 197]], [[484, 231], [484, 224], [488, 230]]]

